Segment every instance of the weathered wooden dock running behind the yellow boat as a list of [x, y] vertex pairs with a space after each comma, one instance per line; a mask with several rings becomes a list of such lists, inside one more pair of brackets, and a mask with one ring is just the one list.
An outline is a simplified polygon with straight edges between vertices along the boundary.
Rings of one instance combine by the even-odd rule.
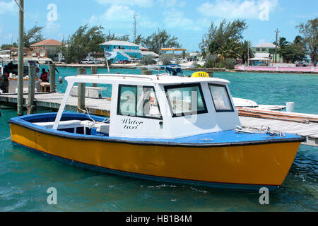
[[[35, 106], [47, 107], [54, 111], [59, 109], [62, 93], [35, 93]], [[28, 106], [28, 94], [23, 95], [24, 107]], [[110, 99], [108, 98], [88, 98], [86, 97], [86, 108], [90, 114], [101, 116], [110, 116]], [[16, 106], [16, 94], [0, 95], [0, 105]], [[78, 97], [69, 97], [66, 109], [77, 112]], [[307, 140], [305, 145], [318, 147], [318, 115], [313, 114], [297, 114], [269, 111], [261, 114], [261, 111], [255, 113], [255, 109], [242, 110], [239, 109], [240, 121], [242, 127], [251, 129], [261, 129], [261, 126], [269, 126], [271, 131], [282, 131], [284, 133], [293, 133], [305, 136]], [[254, 113], [253, 113], [254, 112]], [[247, 114], [248, 113], [248, 114]], [[251, 114], [253, 113], [253, 114]], [[264, 112], [263, 112], [264, 113]], [[283, 117], [278, 117], [282, 114]]]

